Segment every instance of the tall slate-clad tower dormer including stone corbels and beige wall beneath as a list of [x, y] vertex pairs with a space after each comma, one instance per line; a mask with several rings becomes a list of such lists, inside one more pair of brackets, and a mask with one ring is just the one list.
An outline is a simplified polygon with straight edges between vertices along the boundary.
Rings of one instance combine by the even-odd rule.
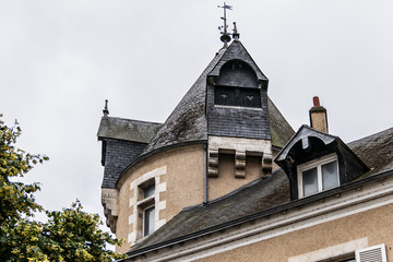
[[236, 24], [233, 36], [207, 74], [209, 199], [272, 171], [269, 80], [240, 43]]

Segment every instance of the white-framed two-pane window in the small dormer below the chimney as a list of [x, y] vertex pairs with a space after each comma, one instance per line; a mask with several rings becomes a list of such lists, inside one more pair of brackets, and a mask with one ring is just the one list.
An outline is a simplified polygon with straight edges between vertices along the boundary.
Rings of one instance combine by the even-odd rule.
[[335, 154], [298, 166], [299, 198], [338, 186], [338, 164]]

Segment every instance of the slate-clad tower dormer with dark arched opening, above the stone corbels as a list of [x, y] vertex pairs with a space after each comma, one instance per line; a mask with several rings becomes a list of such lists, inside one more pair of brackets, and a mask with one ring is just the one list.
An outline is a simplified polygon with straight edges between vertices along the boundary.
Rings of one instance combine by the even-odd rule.
[[267, 78], [239, 40], [207, 74], [209, 135], [271, 140]]

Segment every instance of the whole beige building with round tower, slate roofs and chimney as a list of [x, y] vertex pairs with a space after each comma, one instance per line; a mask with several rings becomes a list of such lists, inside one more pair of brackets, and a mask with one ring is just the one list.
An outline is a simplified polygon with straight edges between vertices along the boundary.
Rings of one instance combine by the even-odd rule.
[[102, 202], [127, 239], [118, 251], [126, 261], [393, 261], [393, 129], [345, 144], [315, 97], [311, 127], [295, 133], [233, 36], [164, 123], [109, 117], [106, 106]]

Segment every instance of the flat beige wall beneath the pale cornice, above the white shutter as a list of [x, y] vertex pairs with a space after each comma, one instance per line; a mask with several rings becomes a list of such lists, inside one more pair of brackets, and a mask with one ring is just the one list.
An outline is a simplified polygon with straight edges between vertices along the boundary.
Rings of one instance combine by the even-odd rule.
[[[326, 222], [222, 252], [198, 261], [269, 261], [287, 262], [333, 246], [348, 242], [367, 242], [368, 247], [385, 243], [388, 261], [393, 262], [393, 204]], [[295, 261], [295, 260], [294, 260]], [[301, 260], [300, 260], [301, 261]], [[308, 260], [303, 260], [307, 262]]]

